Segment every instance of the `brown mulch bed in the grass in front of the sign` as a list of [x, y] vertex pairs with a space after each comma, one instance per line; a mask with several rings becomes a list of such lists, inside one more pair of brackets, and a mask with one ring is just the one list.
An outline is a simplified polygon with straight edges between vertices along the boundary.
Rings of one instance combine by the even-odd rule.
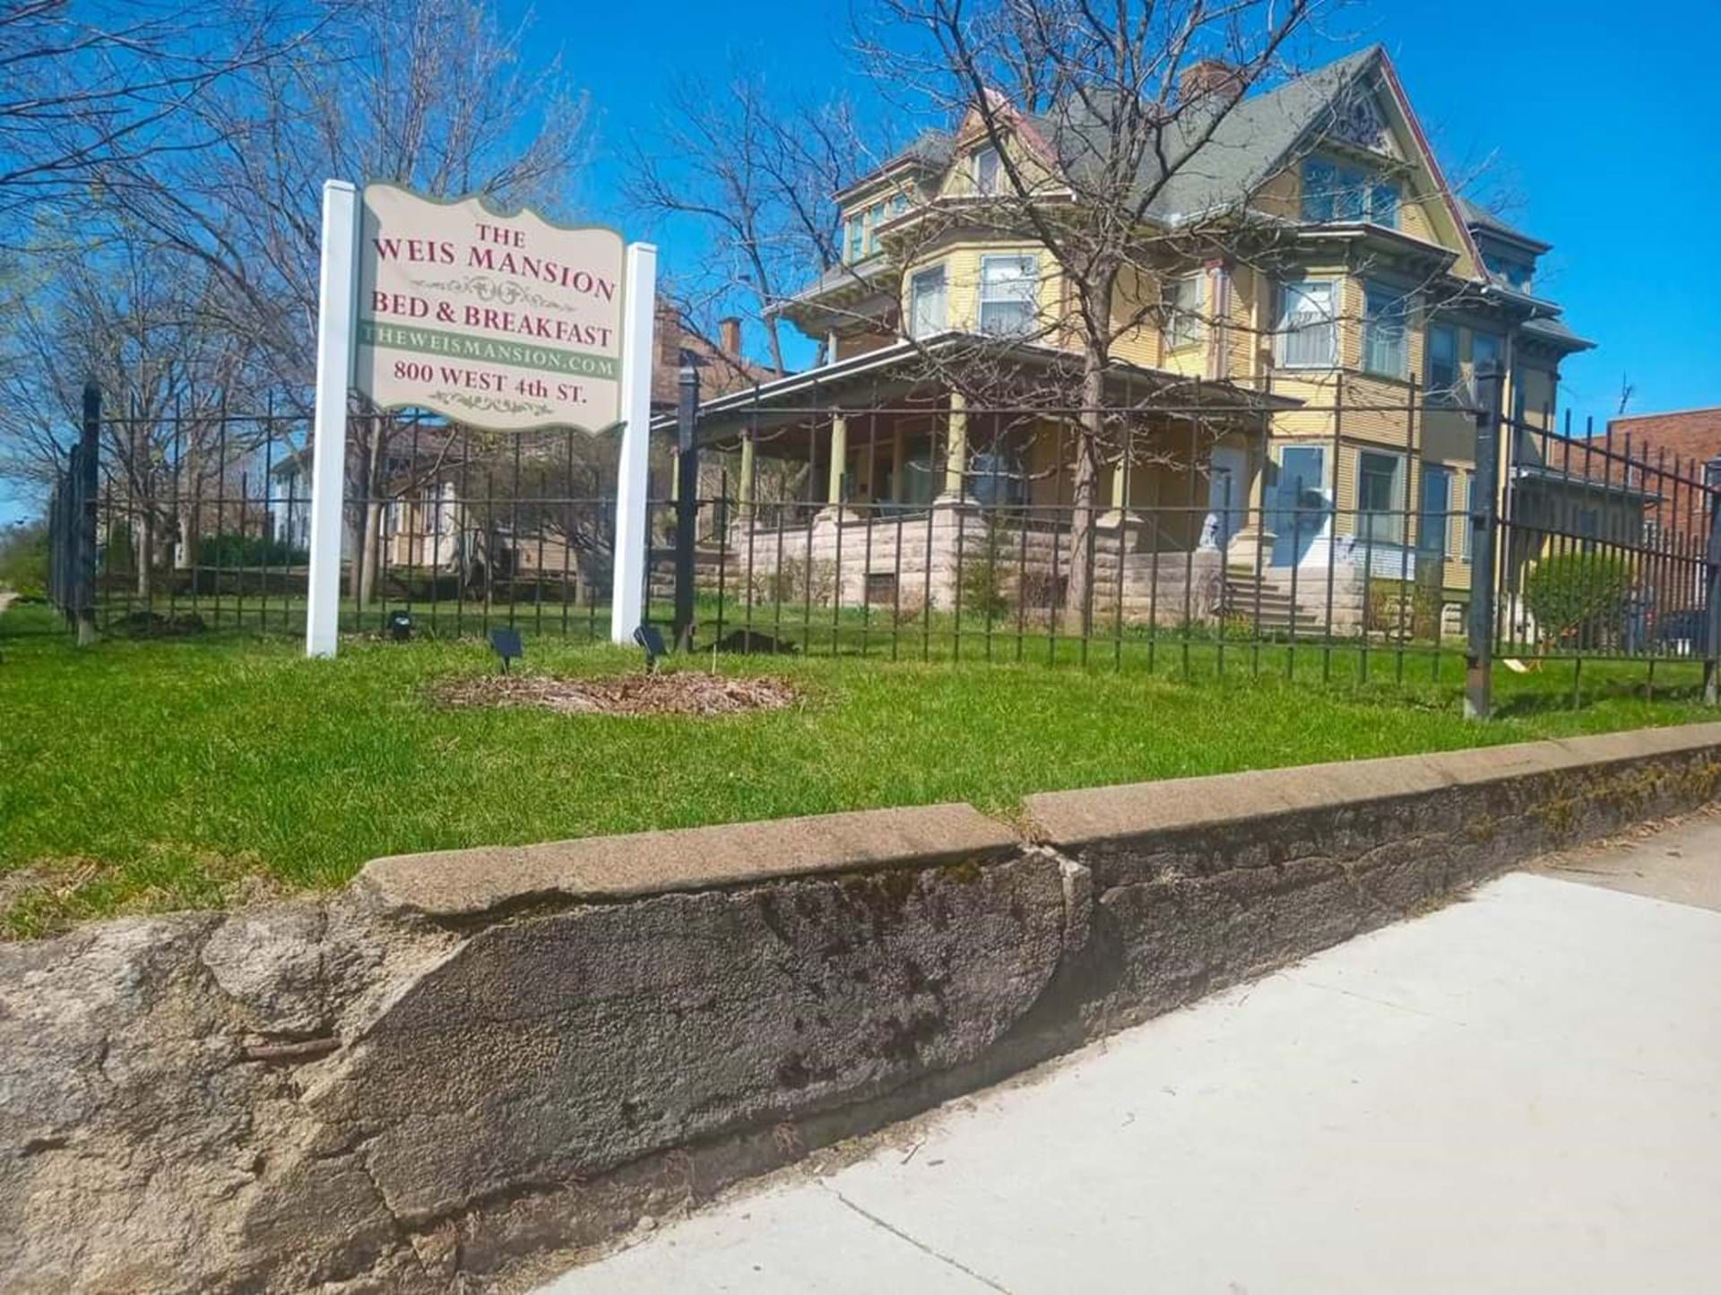
[[537, 707], [559, 715], [740, 715], [781, 710], [800, 693], [781, 679], [733, 679], [699, 671], [552, 679], [482, 674], [444, 679], [432, 698], [446, 707]]

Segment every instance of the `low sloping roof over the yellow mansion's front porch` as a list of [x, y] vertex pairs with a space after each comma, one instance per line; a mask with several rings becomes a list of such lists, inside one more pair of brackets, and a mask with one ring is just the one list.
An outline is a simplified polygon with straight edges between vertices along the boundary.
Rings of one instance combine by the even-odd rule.
[[[922, 341], [902, 341], [704, 401], [699, 406], [699, 442], [700, 445], [721, 447], [733, 444], [749, 428], [824, 418], [836, 411], [864, 413], [879, 399], [948, 390], [953, 384], [936, 366], [943, 363], [948, 365], [950, 373], [960, 373], [964, 359], [976, 347], [984, 347], [984, 363], [1007, 361], [1029, 371], [1070, 365], [1079, 359], [1074, 353], [1053, 346], [1000, 342], [996, 337], [971, 332], [945, 332]], [[1301, 404], [1294, 397], [1255, 390], [1236, 382], [1191, 378], [1124, 359], [1110, 361], [1107, 384], [1119, 389], [1119, 394], [1127, 392], [1129, 396], [1175, 390], [1179, 409], [1231, 409], [1249, 420], [1265, 418], [1274, 409], [1294, 409]], [[976, 411], [981, 409], [976, 406]], [[1146, 413], [1151, 413], [1151, 408]], [[1167, 413], [1175, 413], [1175, 409]], [[673, 428], [673, 416], [657, 418], [652, 423], [654, 432], [671, 432]]]

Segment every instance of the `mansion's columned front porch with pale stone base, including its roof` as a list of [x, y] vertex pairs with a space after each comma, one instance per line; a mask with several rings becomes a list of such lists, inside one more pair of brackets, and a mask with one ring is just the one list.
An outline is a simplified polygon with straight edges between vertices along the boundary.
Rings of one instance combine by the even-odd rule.
[[1258, 394], [1117, 366], [1084, 464], [1079, 411], [1034, 370], [981, 404], [919, 347], [890, 349], [700, 409], [702, 452], [730, 464], [707, 533], [731, 588], [1022, 621], [1084, 602], [1100, 623], [1174, 626], [1217, 617], [1227, 564], [1270, 552]]

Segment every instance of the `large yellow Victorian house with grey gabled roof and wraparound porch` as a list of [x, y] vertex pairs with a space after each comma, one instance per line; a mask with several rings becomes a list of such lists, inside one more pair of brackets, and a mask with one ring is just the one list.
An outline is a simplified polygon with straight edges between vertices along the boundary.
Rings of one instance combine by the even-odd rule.
[[[1537, 294], [1549, 244], [1451, 191], [1379, 46], [1241, 101], [1229, 77], [1191, 67], [1179, 96], [1227, 112], [1210, 132], [1200, 112], [1175, 120], [1174, 144], [1198, 141], [1182, 165], [1141, 160], [1088, 583], [1160, 621], [1239, 585], [1323, 628], [1356, 624], [1370, 576], [1461, 600], [1477, 366], [1504, 370], [1506, 413], [1552, 427], [1559, 363], [1590, 346]], [[706, 444], [742, 451], [750, 561], [804, 528], [809, 561], [848, 545], [838, 598], [895, 588], [879, 562], [900, 580], [907, 559], [936, 602], [964, 509], [991, 506], [1014, 509], [1024, 562], [1055, 566], [1079, 521], [1070, 392], [1093, 308], [1057, 242], [1060, 222], [1093, 218], [1105, 112], [993, 96], [836, 194], [842, 263], [780, 306], [823, 363], [700, 411]], [[805, 461], [799, 509], [752, 507], [762, 454]]]

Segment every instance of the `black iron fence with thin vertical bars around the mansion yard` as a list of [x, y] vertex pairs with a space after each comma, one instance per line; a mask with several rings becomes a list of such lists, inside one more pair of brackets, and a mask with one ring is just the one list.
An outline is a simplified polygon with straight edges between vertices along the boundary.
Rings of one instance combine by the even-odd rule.
[[[690, 427], [680, 457], [664, 439], [645, 617], [694, 648], [891, 660], [1463, 662], [1482, 710], [1496, 657], [1704, 662], [1714, 688], [1706, 464], [1415, 385], [1368, 404], [1341, 380], [1284, 427], [1210, 399], [1107, 411], [1086, 464], [1086, 411], [1027, 413], [878, 402], [833, 440], [833, 411], [776, 408], [793, 435]], [[342, 628], [608, 640], [614, 459], [580, 432], [355, 416]], [[91, 406], [55, 494], [55, 602], [108, 633], [303, 633], [308, 468], [301, 411]]]

